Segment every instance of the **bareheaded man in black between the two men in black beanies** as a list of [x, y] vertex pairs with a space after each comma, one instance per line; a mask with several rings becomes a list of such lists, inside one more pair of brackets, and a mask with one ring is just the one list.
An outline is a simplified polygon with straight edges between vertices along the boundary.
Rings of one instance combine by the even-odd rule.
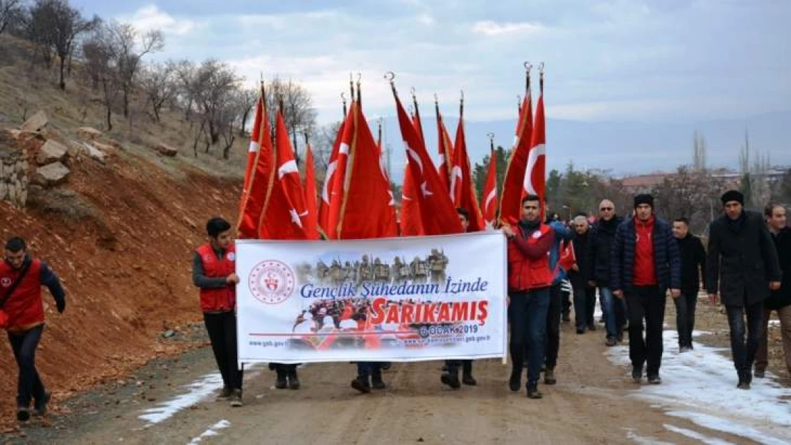
[[701, 277], [706, 275], [706, 249], [700, 238], [690, 233], [687, 218], [673, 221], [673, 236], [679, 243], [681, 255], [681, 295], [676, 303], [676, 329], [679, 331], [679, 353], [692, 349], [694, 310], [698, 304]]

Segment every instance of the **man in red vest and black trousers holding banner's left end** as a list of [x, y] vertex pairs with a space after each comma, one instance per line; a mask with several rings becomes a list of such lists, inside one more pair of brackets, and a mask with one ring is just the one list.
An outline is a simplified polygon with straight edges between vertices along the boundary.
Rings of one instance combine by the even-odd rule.
[[203, 322], [222, 375], [218, 400], [230, 399], [231, 406], [241, 406], [243, 372], [237, 365], [236, 247], [228, 221], [211, 218], [206, 223], [206, 232], [209, 242], [198, 247], [192, 259], [192, 282], [200, 288]]

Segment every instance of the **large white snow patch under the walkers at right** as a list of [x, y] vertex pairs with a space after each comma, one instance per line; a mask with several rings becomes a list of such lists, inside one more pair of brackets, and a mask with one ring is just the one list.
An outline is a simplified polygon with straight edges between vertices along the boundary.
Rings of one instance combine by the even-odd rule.
[[[660, 403], [668, 415], [687, 418], [705, 428], [759, 443], [791, 443], [791, 388], [766, 378], [753, 379], [751, 390], [737, 390], [729, 349], [700, 343], [694, 348], [690, 353], [678, 353], [676, 331], [665, 330], [660, 369], [663, 383], [644, 384], [632, 397]], [[625, 373], [630, 372], [628, 346], [609, 348], [605, 354], [629, 370]]]

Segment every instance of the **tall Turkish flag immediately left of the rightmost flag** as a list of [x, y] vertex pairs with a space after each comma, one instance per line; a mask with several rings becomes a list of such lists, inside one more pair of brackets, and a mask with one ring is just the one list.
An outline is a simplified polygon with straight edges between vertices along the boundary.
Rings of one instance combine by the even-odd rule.
[[517, 135], [513, 141], [511, 157], [505, 168], [505, 180], [502, 186], [500, 199], [500, 221], [503, 224], [517, 224], [520, 220], [522, 209], [522, 189], [524, 187], [524, 172], [528, 165], [528, 151], [532, 135], [532, 99], [528, 93], [522, 101], [517, 123]]

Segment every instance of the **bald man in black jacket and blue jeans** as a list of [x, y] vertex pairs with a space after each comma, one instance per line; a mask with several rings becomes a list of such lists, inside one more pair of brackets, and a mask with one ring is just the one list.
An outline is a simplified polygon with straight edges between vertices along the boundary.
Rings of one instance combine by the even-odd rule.
[[588, 240], [585, 276], [591, 287], [599, 288], [599, 295], [604, 299], [601, 311], [604, 315], [604, 327], [607, 330], [607, 346], [615, 346], [623, 339], [623, 324], [626, 322], [626, 304], [623, 299], [616, 299], [610, 288], [610, 258], [615, 229], [623, 220], [615, 216], [615, 204], [605, 199], [599, 204], [599, 221], [593, 225]]

